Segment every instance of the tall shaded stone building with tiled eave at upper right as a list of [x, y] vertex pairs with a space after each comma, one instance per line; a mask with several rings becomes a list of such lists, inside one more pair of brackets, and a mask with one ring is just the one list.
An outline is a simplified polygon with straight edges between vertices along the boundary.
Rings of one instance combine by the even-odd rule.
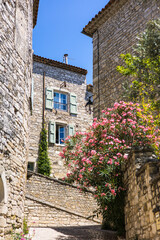
[[110, 0], [84, 27], [93, 38], [94, 116], [119, 99], [124, 77], [116, 67], [119, 56], [131, 51], [136, 36], [160, 16], [159, 0]]

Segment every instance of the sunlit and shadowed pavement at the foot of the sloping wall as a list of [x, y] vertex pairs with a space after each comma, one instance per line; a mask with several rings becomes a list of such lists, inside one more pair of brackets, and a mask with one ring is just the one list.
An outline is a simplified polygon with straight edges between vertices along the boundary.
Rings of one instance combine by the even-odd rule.
[[117, 240], [116, 233], [100, 226], [31, 228], [33, 240]]

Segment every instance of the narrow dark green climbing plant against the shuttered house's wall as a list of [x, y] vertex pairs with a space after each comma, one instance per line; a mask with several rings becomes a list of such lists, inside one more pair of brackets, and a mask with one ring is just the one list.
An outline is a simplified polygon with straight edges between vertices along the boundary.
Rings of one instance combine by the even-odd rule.
[[47, 131], [45, 128], [42, 128], [39, 143], [38, 173], [49, 176], [51, 172], [51, 166], [47, 150]]

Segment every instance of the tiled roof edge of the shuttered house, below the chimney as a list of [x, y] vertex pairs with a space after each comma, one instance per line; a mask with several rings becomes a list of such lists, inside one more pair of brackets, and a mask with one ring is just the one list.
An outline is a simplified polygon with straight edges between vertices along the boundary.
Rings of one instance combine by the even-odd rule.
[[83, 69], [83, 68], [79, 68], [79, 67], [75, 67], [66, 63], [62, 63], [62, 62], [58, 62], [52, 59], [48, 59], [48, 58], [44, 58], [44, 57], [40, 57], [37, 55], [33, 55], [33, 61], [35, 62], [40, 62], [40, 63], [44, 63], [53, 67], [57, 67], [57, 68], [62, 68], [71, 72], [76, 72], [76, 73], [80, 73], [82, 75], [86, 75], [87, 74], [87, 70]]

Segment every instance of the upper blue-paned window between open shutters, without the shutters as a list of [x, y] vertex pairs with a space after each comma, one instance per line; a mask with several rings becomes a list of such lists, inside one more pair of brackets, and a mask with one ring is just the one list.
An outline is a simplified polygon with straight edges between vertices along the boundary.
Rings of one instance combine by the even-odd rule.
[[67, 111], [67, 95], [64, 93], [54, 92], [54, 108]]

